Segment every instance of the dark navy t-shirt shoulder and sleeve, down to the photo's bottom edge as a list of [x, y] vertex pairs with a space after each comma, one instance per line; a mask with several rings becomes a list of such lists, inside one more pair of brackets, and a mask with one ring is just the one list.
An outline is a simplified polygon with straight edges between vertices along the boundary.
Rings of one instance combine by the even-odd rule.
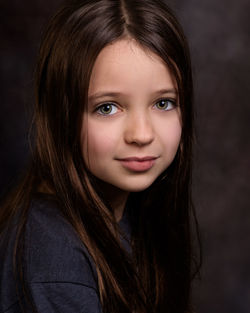
[[35, 203], [30, 209], [24, 264], [39, 313], [102, 312], [94, 262], [53, 203]]

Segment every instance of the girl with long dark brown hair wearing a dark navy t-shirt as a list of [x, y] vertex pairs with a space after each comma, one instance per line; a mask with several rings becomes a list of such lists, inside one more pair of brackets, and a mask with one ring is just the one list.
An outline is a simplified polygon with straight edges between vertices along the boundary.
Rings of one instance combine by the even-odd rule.
[[65, 4], [34, 121], [31, 167], [1, 209], [0, 311], [192, 312], [192, 75], [169, 8]]

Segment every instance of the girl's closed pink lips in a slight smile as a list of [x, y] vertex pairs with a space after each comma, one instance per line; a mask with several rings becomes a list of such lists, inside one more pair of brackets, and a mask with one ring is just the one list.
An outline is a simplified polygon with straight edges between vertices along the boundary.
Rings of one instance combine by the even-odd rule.
[[153, 167], [158, 157], [146, 156], [146, 157], [128, 157], [118, 159], [122, 166], [132, 172], [145, 172]]

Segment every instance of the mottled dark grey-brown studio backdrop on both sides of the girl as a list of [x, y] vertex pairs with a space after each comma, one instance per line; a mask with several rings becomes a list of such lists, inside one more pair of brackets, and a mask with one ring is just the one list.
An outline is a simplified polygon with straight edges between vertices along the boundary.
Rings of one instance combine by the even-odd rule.
[[[42, 29], [62, 0], [0, 0], [0, 194], [29, 156]], [[190, 42], [197, 115], [194, 199], [203, 240], [197, 313], [250, 312], [250, 1], [171, 0]]]

